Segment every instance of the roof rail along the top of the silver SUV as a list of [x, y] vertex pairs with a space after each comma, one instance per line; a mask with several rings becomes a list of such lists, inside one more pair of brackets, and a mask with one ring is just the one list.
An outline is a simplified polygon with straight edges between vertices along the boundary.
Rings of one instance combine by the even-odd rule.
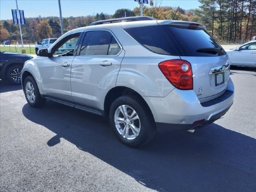
[[92, 22], [89, 25], [118, 23], [118, 22], [127, 22], [127, 21], [147, 21], [147, 20], [156, 20], [156, 19], [152, 18], [152, 17], [146, 17], [146, 16], [123, 17], [123, 18], [117, 18], [117, 19], [107, 19], [107, 20], [95, 21], [95, 22]]

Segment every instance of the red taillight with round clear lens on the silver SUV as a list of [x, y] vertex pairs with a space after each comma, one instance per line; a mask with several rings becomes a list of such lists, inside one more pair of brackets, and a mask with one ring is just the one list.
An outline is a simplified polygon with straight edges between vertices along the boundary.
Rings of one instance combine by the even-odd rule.
[[179, 89], [193, 89], [191, 64], [182, 59], [173, 59], [158, 64], [164, 76]]

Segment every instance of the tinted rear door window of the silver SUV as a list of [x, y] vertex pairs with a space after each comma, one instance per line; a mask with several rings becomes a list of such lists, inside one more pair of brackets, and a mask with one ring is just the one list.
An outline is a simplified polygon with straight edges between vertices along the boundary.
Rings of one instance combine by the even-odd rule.
[[108, 31], [86, 32], [80, 55], [116, 55], [120, 47]]

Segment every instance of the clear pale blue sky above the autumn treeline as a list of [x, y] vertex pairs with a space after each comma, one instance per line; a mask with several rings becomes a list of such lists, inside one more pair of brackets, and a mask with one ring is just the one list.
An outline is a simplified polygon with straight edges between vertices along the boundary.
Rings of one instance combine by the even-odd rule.
[[[104, 12], [112, 15], [117, 9], [138, 7], [134, 0], [61, 0], [62, 17], [78, 17], [96, 15], [97, 12]], [[200, 5], [195, 0], [158, 0], [162, 6], [180, 6], [183, 9], [198, 8]], [[18, 0], [19, 9], [24, 10], [25, 17], [57, 16], [59, 17], [58, 0]], [[16, 9], [15, 0], [0, 1], [0, 20], [11, 19], [11, 9]]]

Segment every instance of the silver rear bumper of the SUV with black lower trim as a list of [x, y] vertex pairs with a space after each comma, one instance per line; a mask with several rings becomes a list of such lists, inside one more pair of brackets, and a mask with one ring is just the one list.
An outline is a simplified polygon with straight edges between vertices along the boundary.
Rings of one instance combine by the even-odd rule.
[[229, 79], [222, 96], [200, 103], [193, 90], [174, 89], [166, 97], [144, 97], [157, 126], [190, 130], [212, 123], [223, 116], [233, 104], [234, 85]]

